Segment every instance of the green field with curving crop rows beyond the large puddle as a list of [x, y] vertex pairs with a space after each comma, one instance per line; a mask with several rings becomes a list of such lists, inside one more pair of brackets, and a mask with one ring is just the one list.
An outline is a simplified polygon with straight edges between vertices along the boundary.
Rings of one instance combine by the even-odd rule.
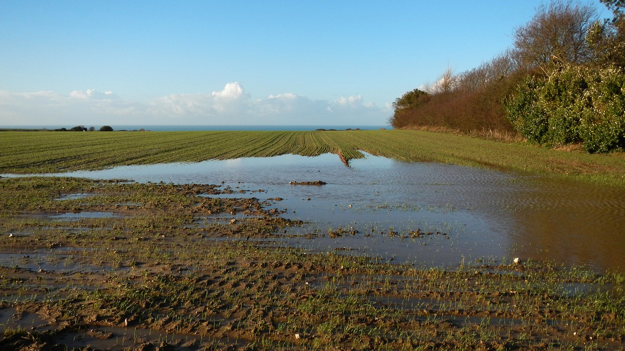
[[2, 132], [0, 173], [103, 169], [281, 154], [361, 152], [401, 161], [556, 174], [625, 186], [625, 154], [597, 155], [422, 131]]

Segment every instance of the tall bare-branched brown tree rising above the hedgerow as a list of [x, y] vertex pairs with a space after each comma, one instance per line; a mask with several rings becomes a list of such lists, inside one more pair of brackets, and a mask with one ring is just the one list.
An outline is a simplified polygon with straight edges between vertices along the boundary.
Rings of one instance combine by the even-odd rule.
[[542, 5], [525, 26], [514, 32], [519, 62], [549, 74], [562, 64], [582, 64], [592, 57], [586, 36], [597, 21], [596, 8], [561, 0]]

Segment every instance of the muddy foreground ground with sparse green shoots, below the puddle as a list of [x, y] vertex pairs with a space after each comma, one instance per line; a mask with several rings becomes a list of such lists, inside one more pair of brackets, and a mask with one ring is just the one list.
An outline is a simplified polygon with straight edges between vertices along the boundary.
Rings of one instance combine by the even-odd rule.
[[257, 199], [197, 197], [232, 190], [0, 179], [0, 349], [623, 347], [621, 275], [274, 247], [297, 222]]

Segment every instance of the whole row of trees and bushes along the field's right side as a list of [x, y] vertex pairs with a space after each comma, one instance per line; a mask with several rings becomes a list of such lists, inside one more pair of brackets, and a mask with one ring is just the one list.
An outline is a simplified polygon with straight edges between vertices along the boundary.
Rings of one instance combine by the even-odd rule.
[[395, 128], [522, 137], [588, 152], [625, 149], [625, 0], [597, 8], [552, 1], [514, 31], [514, 46], [479, 67], [406, 92]]

